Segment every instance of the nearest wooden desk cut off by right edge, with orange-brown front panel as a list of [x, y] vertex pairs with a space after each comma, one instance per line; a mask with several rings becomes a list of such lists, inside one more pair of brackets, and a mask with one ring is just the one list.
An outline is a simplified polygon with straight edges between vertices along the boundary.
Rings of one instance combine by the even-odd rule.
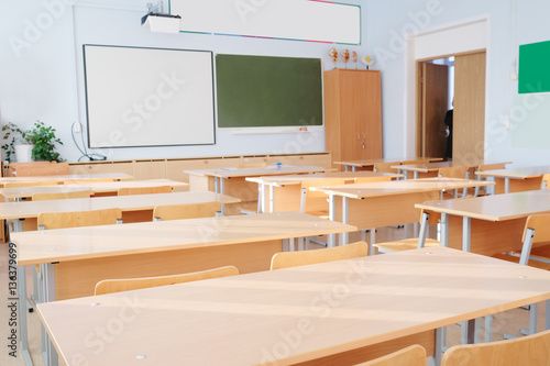
[[527, 218], [550, 212], [550, 191], [425, 202], [416, 207], [441, 214], [442, 245], [495, 255], [521, 247]]

